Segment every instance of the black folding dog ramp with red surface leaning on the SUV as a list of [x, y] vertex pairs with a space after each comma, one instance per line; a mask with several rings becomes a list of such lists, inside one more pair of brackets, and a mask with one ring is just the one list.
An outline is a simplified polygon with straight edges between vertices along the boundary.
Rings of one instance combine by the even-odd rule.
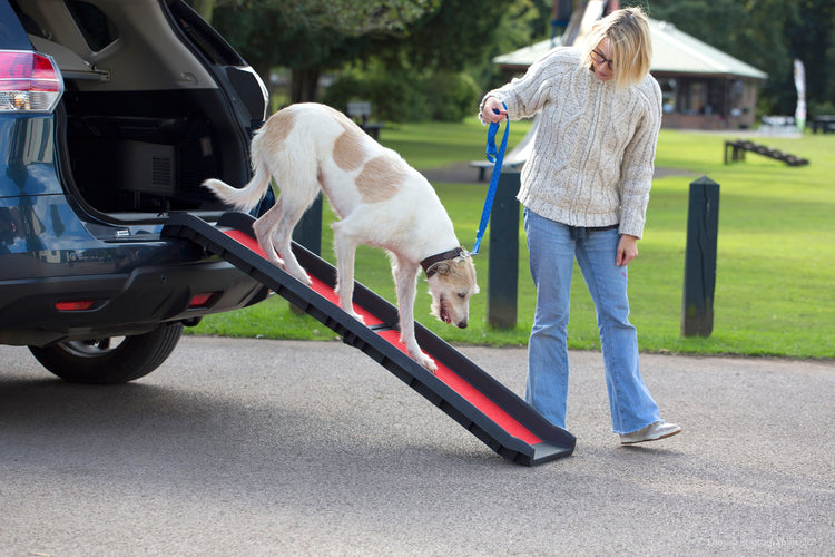
[[253, 237], [253, 222], [249, 215], [226, 213], [216, 227], [191, 214], [174, 214], [163, 228], [163, 235], [199, 244], [287, 299], [508, 460], [533, 466], [573, 452], [576, 438], [571, 433], [553, 426], [524, 400], [415, 322], [418, 342], [438, 363], [435, 374], [423, 369], [405, 353], [400, 342], [396, 306], [362, 284], [354, 286], [354, 311], [363, 316], [365, 324], [345, 313], [334, 293], [336, 268], [317, 255], [298, 244], [293, 245], [313, 287], [273, 265]]

